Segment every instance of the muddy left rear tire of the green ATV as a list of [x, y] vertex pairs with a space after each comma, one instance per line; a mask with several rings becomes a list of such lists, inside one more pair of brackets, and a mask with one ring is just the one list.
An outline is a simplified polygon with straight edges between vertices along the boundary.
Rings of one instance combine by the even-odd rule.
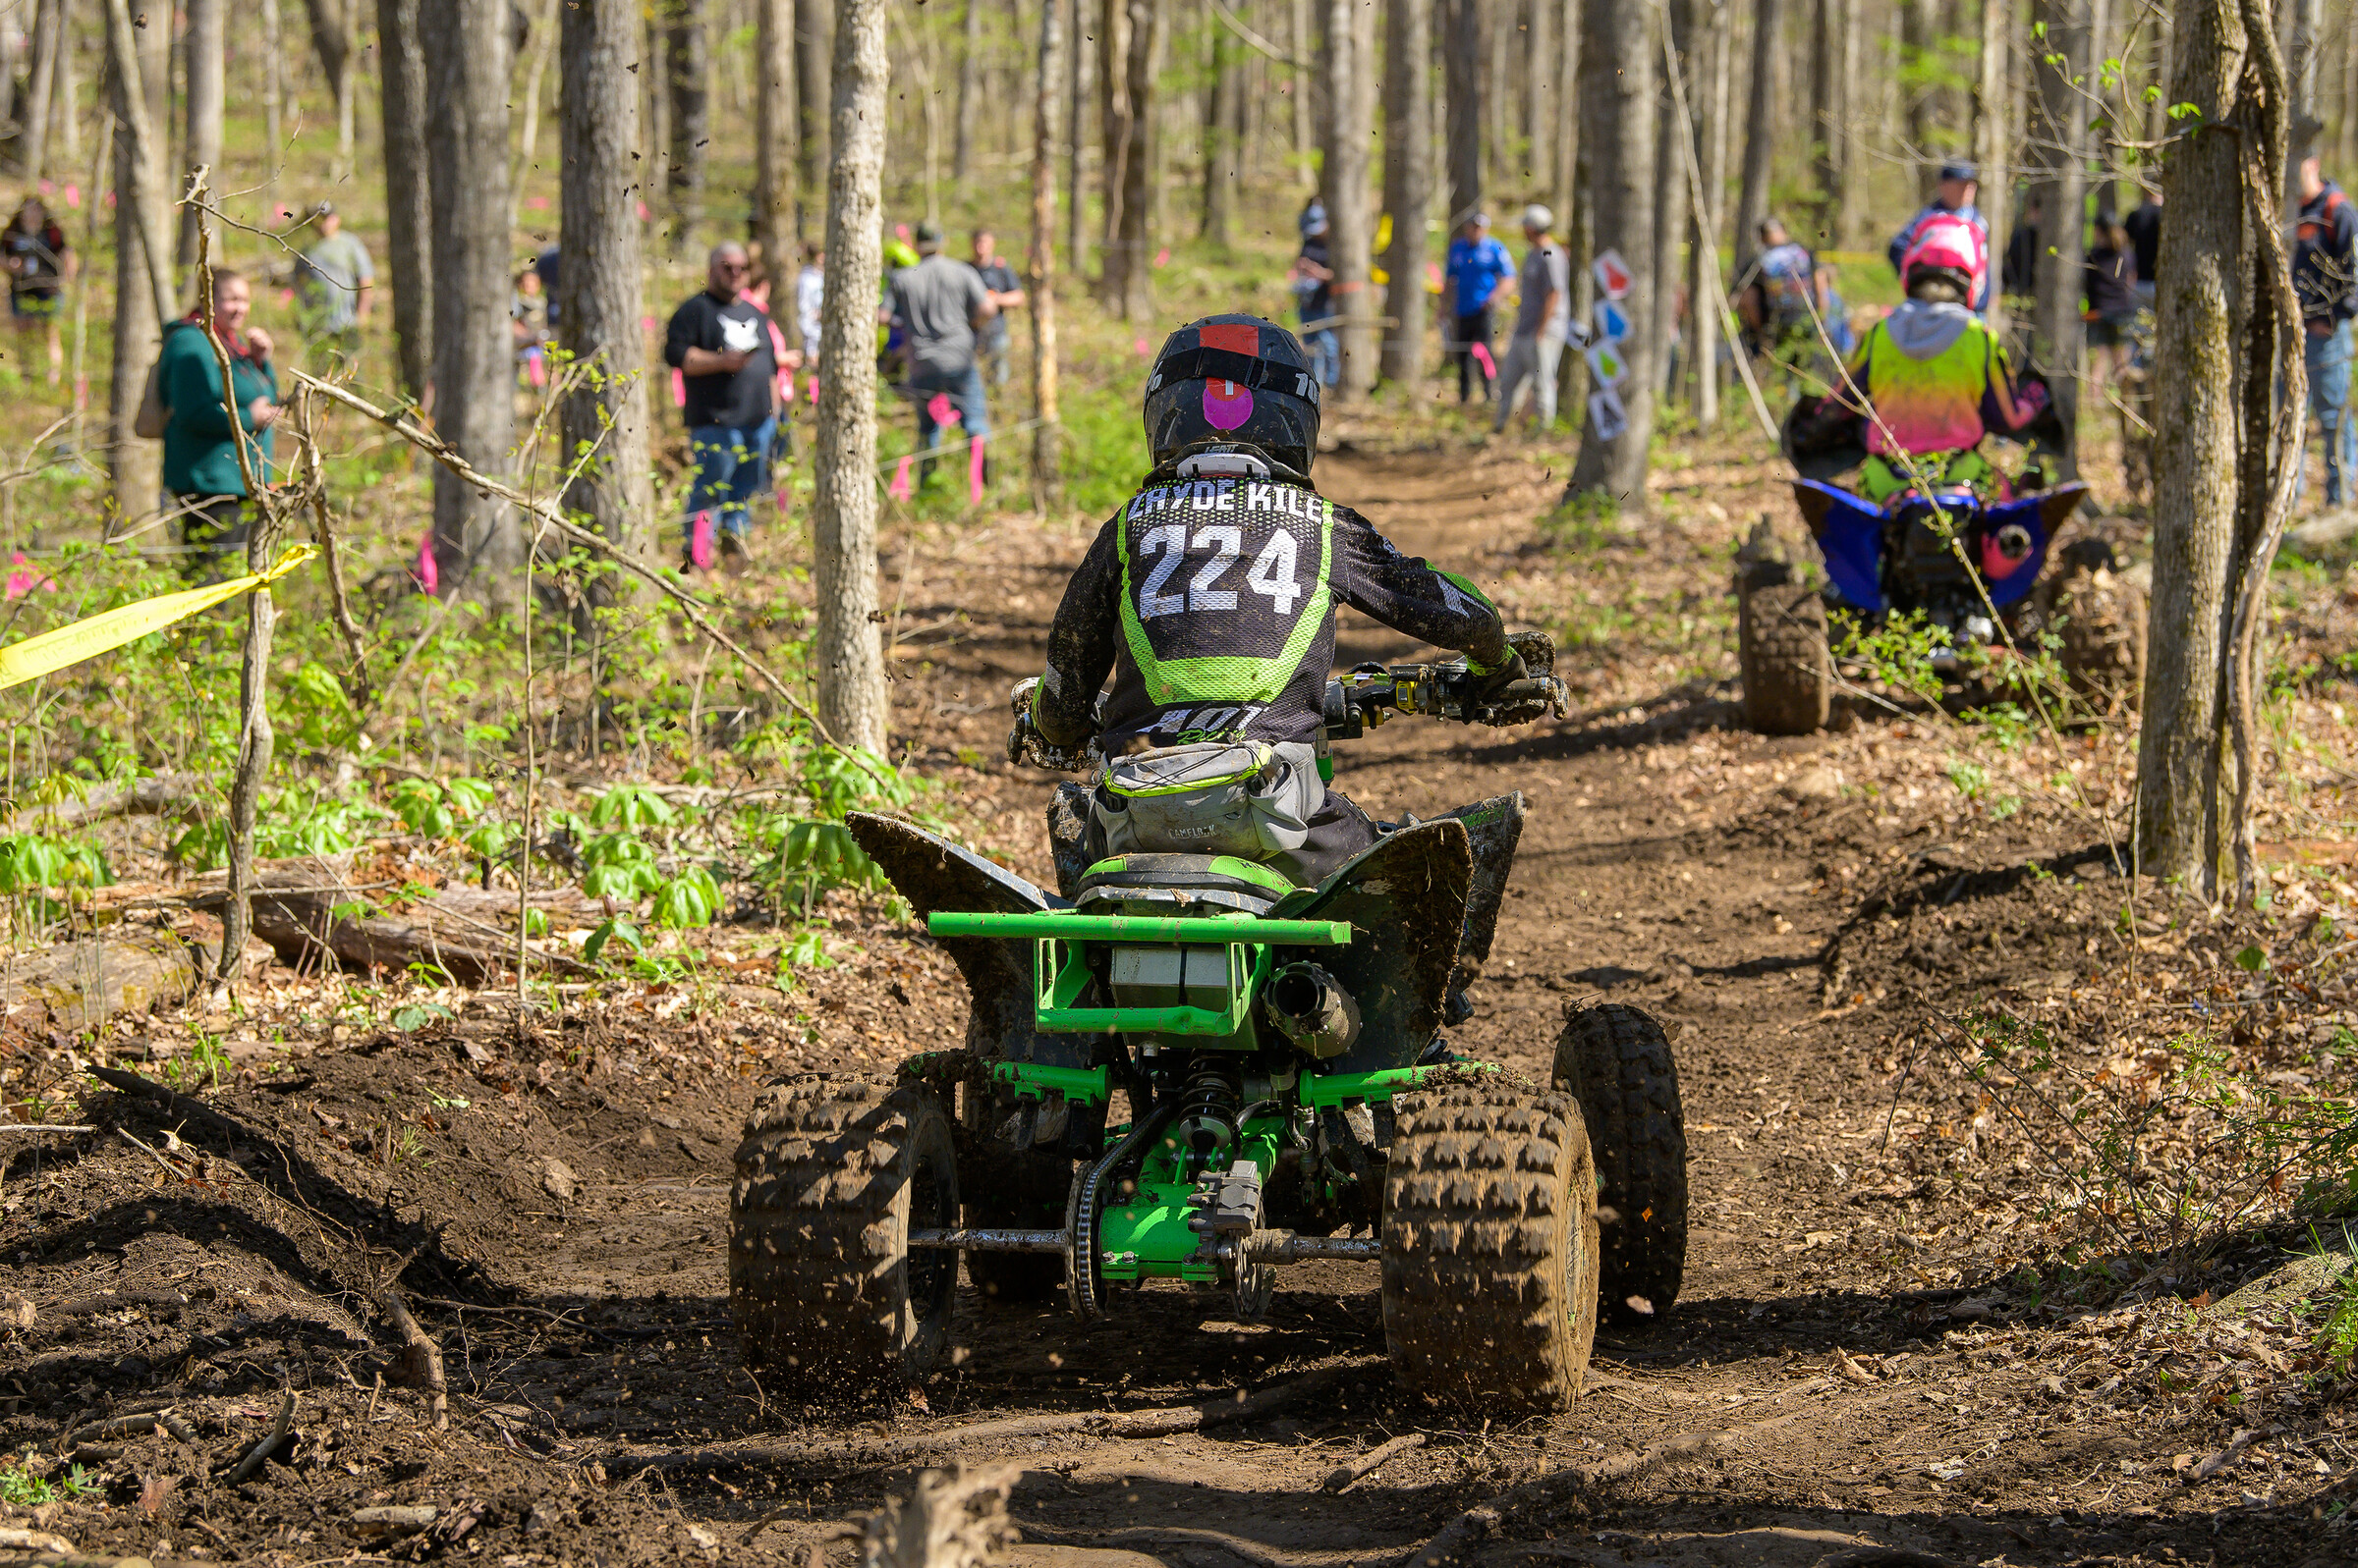
[[[747, 1365], [792, 1389], [915, 1382], [941, 1353], [957, 1254], [950, 1118], [931, 1089], [809, 1073], [755, 1101], [729, 1198], [729, 1306]], [[776, 1386], [776, 1384], [773, 1384]]]

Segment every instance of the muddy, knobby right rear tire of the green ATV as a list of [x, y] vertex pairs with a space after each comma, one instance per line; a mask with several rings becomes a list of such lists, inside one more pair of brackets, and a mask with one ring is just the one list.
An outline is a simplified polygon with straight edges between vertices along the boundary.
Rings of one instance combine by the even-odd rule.
[[1384, 1177], [1384, 1342], [1410, 1389], [1563, 1410], [1596, 1339], [1596, 1167], [1563, 1094], [1405, 1103]]

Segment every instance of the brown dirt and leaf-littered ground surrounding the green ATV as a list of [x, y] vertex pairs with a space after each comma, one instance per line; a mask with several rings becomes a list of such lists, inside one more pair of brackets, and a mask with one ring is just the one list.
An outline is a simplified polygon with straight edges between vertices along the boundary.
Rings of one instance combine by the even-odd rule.
[[[2082, 1148], [2040, 1120], [2040, 1066], [1990, 1073], [1952, 1045], [1974, 1019], [2040, 1033], [2127, 1115], [2205, 1030], [2346, 1087], [2334, 915], [2358, 894], [2339, 882], [2332, 689], [2287, 698], [2264, 828], [2278, 898], [2235, 922], [2115, 872], [2134, 752], [2117, 726], [1997, 743], [1858, 700], [1823, 736], [1745, 733], [1733, 538], [1759, 512], [1797, 538], [1757, 462], [1662, 465], [1651, 521], [1578, 528], [1540, 521], [1561, 469], [1511, 441], [1346, 424], [1320, 481], [1554, 627], [1578, 689], [1561, 724], [1394, 724], [1339, 759], [1379, 816], [1530, 799], [1453, 1047], [1544, 1075], [1566, 1007], [1592, 997], [1653, 1009], [1677, 1045], [1686, 1287], [1599, 1335], [1573, 1410], [1483, 1419], [1405, 1396], [1372, 1264], [1287, 1271], [1259, 1325], [1162, 1290], [1089, 1327], [962, 1292], [957, 1351], [922, 1389], [769, 1398], [726, 1306], [752, 1094], [783, 1068], [964, 1035], [948, 960], [837, 898], [844, 962], [790, 993], [608, 988], [519, 1026], [509, 993], [439, 990], [441, 1016], [387, 1030], [325, 1021], [314, 981], [271, 967], [233, 1014], [35, 1052], [87, 1132], [0, 1144], [0, 1445], [28, 1450], [0, 1471], [5, 1523], [283, 1568], [842, 1561], [844, 1521], [962, 1460], [1019, 1471], [1028, 1563], [1391, 1568], [1467, 1509], [1448, 1556], [1500, 1566], [2351, 1561], [2358, 1410], [2311, 1349], [2320, 1309], [2299, 1290], [2228, 1302], [2299, 1252], [2261, 1224], [2283, 1207], [2200, 1210], [2217, 1224], [2172, 1247], [2193, 1228], [2139, 1198], [2167, 1184], [2143, 1153]], [[1038, 672], [1085, 545], [1000, 519], [887, 561], [894, 729], [969, 839], [1042, 882], [1049, 780], [997, 762], [1005, 693]], [[2358, 646], [2358, 594], [2325, 573], [2294, 587], [2294, 653]], [[1346, 660], [1391, 653], [1346, 625]], [[205, 1115], [80, 1078], [94, 1052], [186, 1061], [200, 1040], [231, 1061]], [[2169, 1125], [2139, 1129], [2167, 1165]], [[2323, 1280], [2334, 1257], [2304, 1266]], [[370, 1299], [396, 1271], [448, 1368], [448, 1429]], [[1200, 1431], [962, 1436], [1309, 1372], [1313, 1391]], [[281, 1401], [290, 1441], [224, 1474]], [[167, 1405], [189, 1441], [101, 1427]], [[1427, 1441], [1323, 1488], [1403, 1434]], [[1620, 1478], [1585, 1469], [1613, 1460]], [[363, 1514], [384, 1507], [434, 1514]]]

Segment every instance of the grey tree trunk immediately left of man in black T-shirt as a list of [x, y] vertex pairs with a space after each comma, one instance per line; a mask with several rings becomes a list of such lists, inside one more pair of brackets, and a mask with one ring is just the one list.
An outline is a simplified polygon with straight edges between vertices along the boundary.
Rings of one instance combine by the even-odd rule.
[[[764, 0], [773, 5], [773, 0]], [[646, 474], [646, 337], [639, 328], [639, 7], [632, 0], [566, 0], [559, 7], [564, 101], [564, 212], [556, 245], [556, 332], [575, 363], [594, 365], [559, 408], [571, 465], [587, 443], [597, 457], [566, 493], [566, 509], [648, 554], [656, 519]], [[780, 118], [785, 108], [776, 111]], [[785, 163], [776, 165], [783, 198]], [[778, 233], [783, 236], [783, 205]], [[773, 276], [778, 274], [771, 262]]]

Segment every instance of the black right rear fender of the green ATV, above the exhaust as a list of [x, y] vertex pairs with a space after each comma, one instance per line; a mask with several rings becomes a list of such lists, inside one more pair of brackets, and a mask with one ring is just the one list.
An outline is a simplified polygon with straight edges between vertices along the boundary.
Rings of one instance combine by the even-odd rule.
[[[1514, 854], [1511, 842], [1507, 854]], [[1436, 818], [1387, 832], [1325, 882], [1295, 889], [1271, 910], [1280, 920], [1351, 922], [1351, 946], [1318, 950], [1318, 962], [1351, 993], [1361, 1016], [1358, 1040], [1325, 1070], [1415, 1066], [1434, 1042], [1467, 931], [1471, 882], [1467, 825]]]

